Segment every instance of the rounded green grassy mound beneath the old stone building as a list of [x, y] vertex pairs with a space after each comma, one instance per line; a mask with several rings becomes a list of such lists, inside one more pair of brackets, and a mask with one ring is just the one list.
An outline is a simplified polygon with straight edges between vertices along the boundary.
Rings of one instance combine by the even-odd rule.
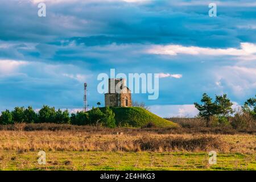
[[141, 107], [110, 107], [110, 109], [115, 113], [118, 126], [142, 127], [154, 123], [158, 127], [179, 127], [176, 123], [160, 118]]

